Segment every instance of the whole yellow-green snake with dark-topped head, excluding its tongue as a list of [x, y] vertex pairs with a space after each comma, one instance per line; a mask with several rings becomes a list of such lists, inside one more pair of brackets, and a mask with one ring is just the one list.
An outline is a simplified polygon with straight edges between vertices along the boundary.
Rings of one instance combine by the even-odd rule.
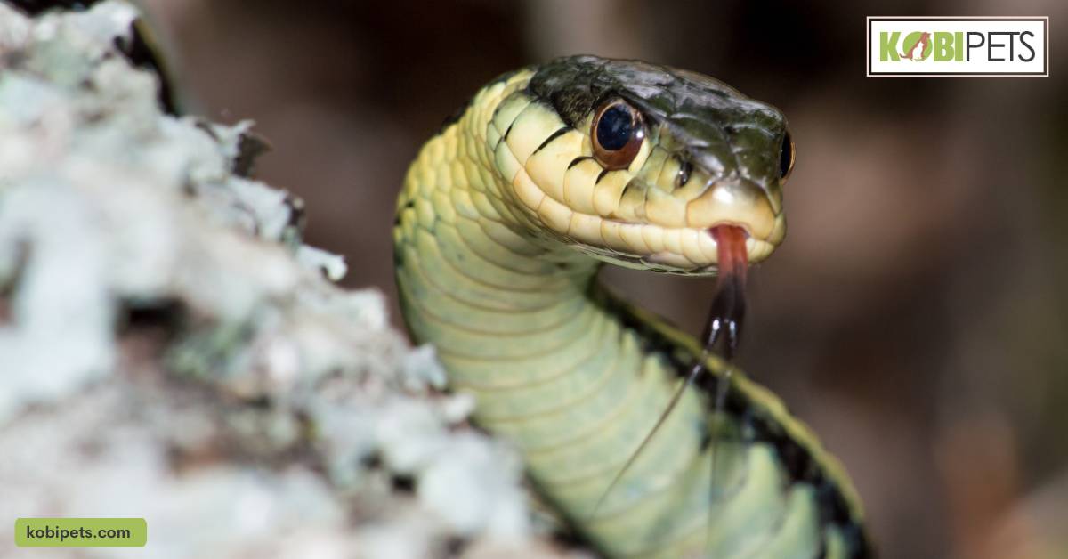
[[[619, 126], [598, 121], [615, 104], [641, 127], [622, 161]], [[408, 170], [393, 236], [412, 338], [607, 556], [870, 554], [837, 462], [740, 373], [721, 415], [685, 392], [599, 501], [701, 355], [596, 281], [599, 265], [714, 274], [708, 228], [724, 222], [744, 228], [750, 261], [766, 258], [785, 232], [787, 134], [776, 109], [711, 78], [570, 57], [484, 87]]]

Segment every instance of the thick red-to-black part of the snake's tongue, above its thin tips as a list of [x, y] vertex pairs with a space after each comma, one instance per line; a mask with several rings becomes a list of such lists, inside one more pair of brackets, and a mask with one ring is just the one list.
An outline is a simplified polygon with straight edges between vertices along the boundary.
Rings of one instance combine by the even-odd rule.
[[716, 283], [716, 297], [705, 326], [705, 351], [713, 352], [723, 340], [722, 356], [733, 359], [738, 351], [741, 327], [745, 320], [745, 230], [736, 226], [717, 226], [709, 230], [716, 239], [720, 275]]

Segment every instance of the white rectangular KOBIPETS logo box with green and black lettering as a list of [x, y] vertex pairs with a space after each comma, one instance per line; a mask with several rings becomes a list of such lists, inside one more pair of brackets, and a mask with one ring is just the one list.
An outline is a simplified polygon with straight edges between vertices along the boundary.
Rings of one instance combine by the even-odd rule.
[[868, 17], [868, 76], [1049, 76], [1050, 18]]

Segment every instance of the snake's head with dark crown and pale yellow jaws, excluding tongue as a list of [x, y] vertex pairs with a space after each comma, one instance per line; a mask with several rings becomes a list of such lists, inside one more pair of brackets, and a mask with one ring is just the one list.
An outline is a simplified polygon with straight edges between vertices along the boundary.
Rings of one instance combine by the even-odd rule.
[[786, 119], [707, 76], [592, 56], [533, 68], [503, 95], [487, 141], [523, 223], [602, 261], [718, 270], [718, 226], [750, 262], [786, 231]]

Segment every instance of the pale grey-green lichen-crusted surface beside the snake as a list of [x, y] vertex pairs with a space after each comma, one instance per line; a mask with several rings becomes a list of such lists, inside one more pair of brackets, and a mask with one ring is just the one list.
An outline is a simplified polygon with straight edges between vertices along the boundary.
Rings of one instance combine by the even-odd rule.
[[433, 352], [240, 175], [251, 124], [160, 111], [115, 49], [136, 17], [0, 3], [0, 524], [143, 516], [139, 557], [559, 557]]

